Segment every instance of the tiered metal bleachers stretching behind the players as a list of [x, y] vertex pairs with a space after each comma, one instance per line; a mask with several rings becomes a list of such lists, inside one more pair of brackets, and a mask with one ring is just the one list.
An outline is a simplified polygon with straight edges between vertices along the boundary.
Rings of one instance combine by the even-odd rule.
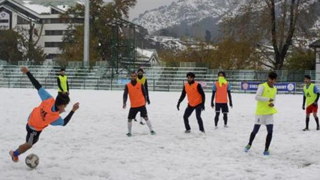
[[[56, 79], [58, 67], [34, 66], [29, 69], [45, 88], [58, 88]], [[0, 87], [32, 88], [27, 76], [19, 70], [19, 66], [0, 67]], [[190, 71], [195, 72], [196, 80], [201, 82], [206, 92], [212, 91], [219, 70], [201, 67], [148, 67], [145, 68], [145, 75], [149, 91], [181, 91], [186, 80], [185, 74]], [[233, 92], [249, 93], [241, 91], [241, 82], [263, 82], [267, 79], [269, 71], [237, 70], [225, 72]], [[106, 78], [102, 75], [108, 73], [110, 72], [106, 67], [94, 67], [91, 70], [67, 68], [70, 89], [122, 90], [124, 85], [129, 82], [130, 76], [127, 73], [119, 74], [115, 78]], [[279, 82], [297, 83], [295, 93], [302, 92], [305, 74], [309, 74], [313, 79], [316, 76], [320, 77], [320, 74], [316, 74], [314, 71], [277, 71], [277, 73]]]

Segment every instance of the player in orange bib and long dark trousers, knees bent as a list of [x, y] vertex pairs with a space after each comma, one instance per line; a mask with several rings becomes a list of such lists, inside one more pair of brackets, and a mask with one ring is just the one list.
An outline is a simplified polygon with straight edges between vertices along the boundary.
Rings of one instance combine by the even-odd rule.
[[187, 82], [184, 84], [182, 93], [180, 96], [180, 99], [177, 104], [177, 109], [180, 107], [180, 103], [184, 100], [185, 95], [187, 95], [188, 98], [188, 106], [185, 109], [183, 119], [184, 119], [184, 126], [185, 126], [185, 133], [190, 133], [191, 128], [189, 125], [189, 117], [193, 113], [194, 110], [196, 110], [196, 116], [197, 121], [199, 125], [199, 130], [203, 133], [205, 133], [205, 130], [203, 128], [203, 122], [201, 118], [201, 111], [205, 110], [205, 93], [203, 92], [203, 89], [201, 87], [201, 84], [197, 81], [195, 81], [196, 75], [194, 73], [187, 73]]

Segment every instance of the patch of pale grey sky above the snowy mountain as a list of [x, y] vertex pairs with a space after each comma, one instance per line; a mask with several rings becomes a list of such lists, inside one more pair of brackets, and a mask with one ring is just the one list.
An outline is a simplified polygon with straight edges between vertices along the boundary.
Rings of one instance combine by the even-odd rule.
[[130, 19], [138, 17], [139, 14], [144, 13], [146, 10], [151, 10], [164, 5], [170, 5], [177, 0], [137, 0], [137, 5], [130, 11]]

